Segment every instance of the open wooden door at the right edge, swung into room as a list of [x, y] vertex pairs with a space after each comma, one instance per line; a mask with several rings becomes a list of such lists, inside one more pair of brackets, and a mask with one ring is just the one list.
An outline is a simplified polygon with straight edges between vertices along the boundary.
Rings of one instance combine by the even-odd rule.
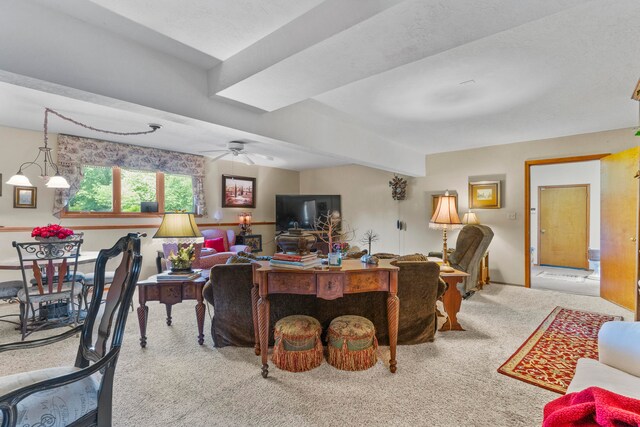
[[600, 296], [634, 312], [638, 294], [639, 166], [638, 147], [603, 157], [600, 166]]

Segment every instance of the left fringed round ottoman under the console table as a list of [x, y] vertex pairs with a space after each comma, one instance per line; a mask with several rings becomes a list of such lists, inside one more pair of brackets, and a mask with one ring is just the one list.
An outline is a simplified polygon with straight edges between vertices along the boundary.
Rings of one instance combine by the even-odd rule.
[[320, 322], [310, 316], [287, 316], [276, 322], [271, 360], [280, 369], [304, 372], [322, 363]]

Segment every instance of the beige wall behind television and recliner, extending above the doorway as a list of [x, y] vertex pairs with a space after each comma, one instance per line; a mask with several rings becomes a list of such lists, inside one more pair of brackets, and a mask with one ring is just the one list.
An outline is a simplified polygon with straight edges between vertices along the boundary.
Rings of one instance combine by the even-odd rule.
[[[459, 210], [464, 212], [469, 177], [503, 175], [502, 209], [475, 212], [495, 234], [489, 247], [491, 279], [523, 285], [524, 162], [622, 151], [640, 142], [634, 133], [634, 129], [619, 129], [428, 155], [426, 176], [409, 179], [408, 198], [401, 202], [391, 199], [387, 185], [390, 173], [360, 166], [303, 171], [300, 191], [341, 194], [345, 219], [361, 232], [373, 228], [381, 235], [376, 252], [426, 253], [442, 248], [441, 233], [428, 228], [429, 193], [456, 190]], [[516, 219], [509, 219], [509, 213], [515, 213]], [[398, 216], [407, 222], [407, 231], [395, 231]], [[456, 237], [450, 233], [450, 246], [455, 246]]]

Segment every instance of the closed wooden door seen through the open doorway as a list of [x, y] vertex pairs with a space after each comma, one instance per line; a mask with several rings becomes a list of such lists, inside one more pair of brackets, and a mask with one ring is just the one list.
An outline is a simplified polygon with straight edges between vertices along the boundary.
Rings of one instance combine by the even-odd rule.
[[588, 268], [589, 185], [538, 187], [541, 265]]

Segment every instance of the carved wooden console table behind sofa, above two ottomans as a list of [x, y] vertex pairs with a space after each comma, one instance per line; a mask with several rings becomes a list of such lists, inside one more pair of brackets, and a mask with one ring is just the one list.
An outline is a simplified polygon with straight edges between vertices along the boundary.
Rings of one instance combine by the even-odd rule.
[[256, 331], [256, 354], [262, 356], [262, 376], [269, 375], [269, 294], [315, 295], [333, 300], [344, 294], [388, 292], [387, 321], [389, 323], [389, 370], [396, 372], [398, 342], [398, 267], [388, 260], [367, 265], [359, 260], [344, 260], [341, 270], [284, 270], [268, 265], [254, 267], [254, 288], [251, 293], [253, 322]]

